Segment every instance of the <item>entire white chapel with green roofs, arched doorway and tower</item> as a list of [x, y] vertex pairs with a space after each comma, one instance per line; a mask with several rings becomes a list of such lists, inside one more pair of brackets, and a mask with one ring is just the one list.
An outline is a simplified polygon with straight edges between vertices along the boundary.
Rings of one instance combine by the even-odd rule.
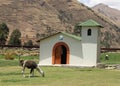
[[96, 66], [100, 56], [102, 26], [91, 19], [78, 26], [80, 36], [58, 32], [39, 40], [39, 65]]

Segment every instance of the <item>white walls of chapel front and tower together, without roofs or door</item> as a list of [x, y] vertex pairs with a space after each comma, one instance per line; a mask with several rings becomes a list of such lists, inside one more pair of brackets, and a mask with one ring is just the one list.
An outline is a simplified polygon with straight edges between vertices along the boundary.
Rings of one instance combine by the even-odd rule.
[[[87, 36], [87, 30], [92, 29], [92, 36]], [[96, 66], [98, 52], [98, 28], [89, 27], [82, 29], [82, 41], [66, 36], [62, 33], [50, 36], [40, 41], [39, 65], [52, 65], [52, 50], [56, 43], [65, 42], [69, 46], [69, 65]], [[63, 40], [59, 36], [63, 35]]]

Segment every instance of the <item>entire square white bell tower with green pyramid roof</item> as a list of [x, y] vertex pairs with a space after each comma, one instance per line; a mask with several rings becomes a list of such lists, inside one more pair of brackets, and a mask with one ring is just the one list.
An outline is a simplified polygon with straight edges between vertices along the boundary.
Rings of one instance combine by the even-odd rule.
[[102, 26], [91, 19], [78, 26], [81, 28], [83, 63], [87, 66], [96, 66], [100, 56], [100, 28]]

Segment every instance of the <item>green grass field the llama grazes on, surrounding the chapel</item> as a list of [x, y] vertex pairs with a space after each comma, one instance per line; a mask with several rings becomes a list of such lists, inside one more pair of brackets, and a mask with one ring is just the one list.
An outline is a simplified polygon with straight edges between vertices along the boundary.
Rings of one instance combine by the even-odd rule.
[[[102, 63], [120, 63], [119, 53], [109, 53], [110, 60]], [[113, 59], [115, 57], [115, 59]], [[28, 57], [24, 57], [28, 59]], [[38, 57], [29, 59], [38, 60]], [[116, 62], [117, 59], [117, 62]], [[43, 78], [37, 71], [35, 77], [24, 78], [18, 60], [5, 60], [0, 56], [0, 86], [119, 86], [120, 70], [107, 70], [98, 68], [69, 68], [69, 67], [41, 67], [45, 72]], [[26, 69], [26, 75], [29, 70]]]

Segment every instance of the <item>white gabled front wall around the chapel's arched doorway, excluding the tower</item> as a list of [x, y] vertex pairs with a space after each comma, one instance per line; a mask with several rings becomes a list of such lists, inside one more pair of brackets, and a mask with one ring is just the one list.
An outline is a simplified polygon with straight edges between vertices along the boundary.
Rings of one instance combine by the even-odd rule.
[[63, 40], [59, 40], [59, 36], [61, 34], [57, 34], [46, 38], [40, 42], [40, 62], [39, 65], [52, 65], [52, 49], [54, 45], [58, 42], [65, 42], [70, 49], [70, 59], [69, 65], [82, 65], [83, 57], [82, 57], [82, 46], [81, 41], [70, 38], [64, 34]]

